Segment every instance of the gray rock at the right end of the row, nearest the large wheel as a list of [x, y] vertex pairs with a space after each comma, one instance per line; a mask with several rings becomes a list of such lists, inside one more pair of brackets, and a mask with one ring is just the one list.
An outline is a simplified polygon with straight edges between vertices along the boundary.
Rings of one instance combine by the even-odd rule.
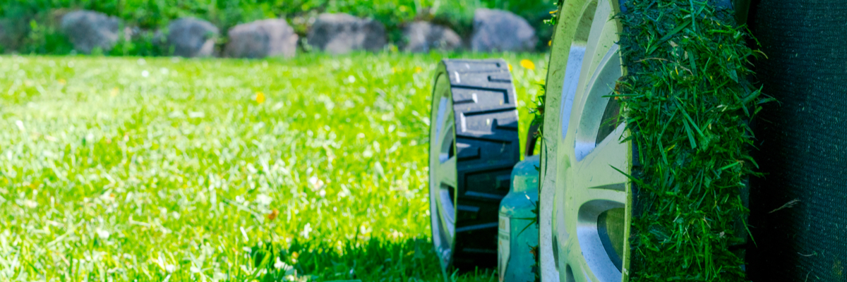
[[533, 51], [537, 41], [535, 29], [517, 14], [488, 8], [473, 13], [473, 51]]

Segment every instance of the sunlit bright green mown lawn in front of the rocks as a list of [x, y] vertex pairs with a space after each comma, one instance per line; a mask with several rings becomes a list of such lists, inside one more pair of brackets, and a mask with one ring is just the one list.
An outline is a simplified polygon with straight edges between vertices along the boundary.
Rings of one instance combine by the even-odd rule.
[[[0, 279], [440, 280], [443, 56], [0, 57]], [[450, 57], [483, 56], [513, 66], [523, 139], [546, 59]]]

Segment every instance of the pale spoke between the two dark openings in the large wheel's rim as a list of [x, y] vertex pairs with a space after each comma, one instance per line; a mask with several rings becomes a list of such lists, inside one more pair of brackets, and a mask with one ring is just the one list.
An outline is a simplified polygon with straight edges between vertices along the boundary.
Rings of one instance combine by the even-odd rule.
[[[619, 124], [612, 134], [606, 136], [605, 140], [577, 164], [577, 189], [591, 189], [589, 194], [600, 193], [599, 190], [626, 191], [627, 176], [612, 168], [623, 172], [628, 170], [628, 142], [618, 141], [625, 130], [626, 125]], [[626, 202], [626, 196], [617, 202]]]

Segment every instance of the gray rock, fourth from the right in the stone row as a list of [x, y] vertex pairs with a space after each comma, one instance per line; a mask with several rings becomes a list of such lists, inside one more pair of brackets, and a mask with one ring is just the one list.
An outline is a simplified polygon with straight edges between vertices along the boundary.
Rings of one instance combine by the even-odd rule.
[[228, 32], [226, 55], [236, 58], [294, 57], [297, 35], [285, 19], [263, 19], [235, 25]]

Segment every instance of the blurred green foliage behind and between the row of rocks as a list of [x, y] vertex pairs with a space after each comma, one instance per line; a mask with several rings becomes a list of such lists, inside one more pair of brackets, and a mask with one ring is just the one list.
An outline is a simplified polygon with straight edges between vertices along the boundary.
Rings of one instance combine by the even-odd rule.
[[[552, 27], [544, 20], [556, 9], [554, 0], [6, 0], [0, 3], [0, 48], [5, 53], [109, 55], [173, 55], [165, 44], [174, 21], [193, 18], [208, 23], [204, 29], [214, 36], [212, 53], [222, 55], [232, 40], [227, 32], [237, 25], [262, 19], [282, 19], [299, 40], [299, 50], [311, 50], [308, 33], [324, 13], [345, 13], [373, 19], [384, 26], [386, 48], [403, 47], [410, 26], [416, 22], [444, 27], [471, 48], [474, 12], [479, 8], [508, 11], [521, 17], [534, 31], [532, 47], [544, 51]], [[68, 19], [74, 11], [88, 11], [91, 19]], [[478, 15], [479, 16], [479, 15]], [[79, 17], [76, 17], [79, 18]], [[99, 50], [80, 45], [85, 33], [74, 25], [98, 25], [95, 33], [109, 37]], [[318, 23], [319, 25], [319, 23]], [[179, 27], [179, 26], [177, 26]], [[526, 31], [524, 31], [526, 32]], [[97, 37], [97, 36], [95, 36]], [[90, 39], [90, 38], [89, 38]], [[93, 40], [93, 39], [92, 39]], [[103, 40], [101, 40], [103, 41]], [[537, 44], [536, 44], [537, 43]], [[92, 43], [93, 44], [93, 43]], [[97, 44], [95, 44], [97, 45]], [[507, 51], [507, 50], [503, 50]], [[237, 56], [236, 56], [237, 57]]]

